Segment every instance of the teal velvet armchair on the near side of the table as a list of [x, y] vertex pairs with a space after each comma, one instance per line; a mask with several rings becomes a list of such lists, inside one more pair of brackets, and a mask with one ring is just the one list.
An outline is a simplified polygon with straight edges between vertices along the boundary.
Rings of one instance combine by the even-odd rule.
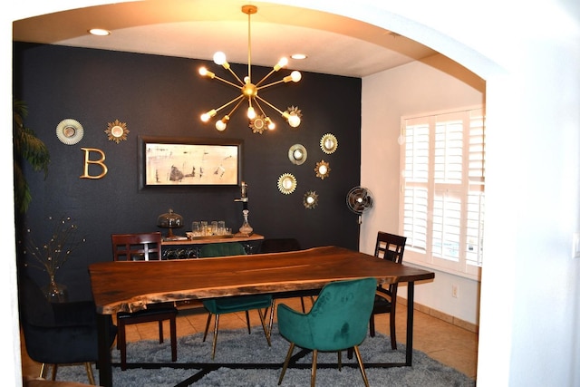
[[278, 305], [278, 330], [290, 342], [278, 385], [282, 383], [297, 345], [313, 352], [311, 386], [314, 387], [316, 381], [318, 351], [337, 352], [340, 370], [341, 351], [352, 347], [362, 380], [368, 387], [369, 381], [364, 372], [358, 345], [366, 337], [376, 287], [377, 281], [374, 278], [332, 282], [323, 287], [307, 314], [297, 312], [284, 304]]

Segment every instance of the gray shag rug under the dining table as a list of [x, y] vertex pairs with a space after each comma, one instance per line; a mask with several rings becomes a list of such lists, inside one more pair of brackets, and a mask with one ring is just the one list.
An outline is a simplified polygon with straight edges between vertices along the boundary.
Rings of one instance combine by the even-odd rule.
[[[156, 363], [157, 368], [129, 368], [121, 371], [119, 366], [113, 365], [113, 385], [115, 387], [185, 387], [194, 386], [227, 386], [227, 387], [266, 387], [276, 386], [282, 370], [282, 364], [289, 348], [289, 343], [278, 334], [276, 329], [272, 333], [272, 346], [266, 343], [266, 337], [260, 327], [247, 330], [221, 330], [218, 334], [216, 359], [211, 360], [211, 341], [202, 342], [202, 334], [193, 334], [178, 339], [178, 362], [170, 363], [171, 351], [169, 341], [140, 341], [128, 343], [127, 361], [130, 363]], [[430, 387], [472, 387], [476, 385], [473, 379], [444, 364], [441, 364], [425, 353], [413, 351], [412, 367], [374, 368], [372, 363], [403, 363], [405, 360], [405, 346], [398, 344], [398, 350], [391, 350], [389, 337], [377, 334], [367, 337], [359, 346], [362, 361], [365, 364], [367, 377], [371, 386], [430, 386]], [[295, 348], [295, 353], [299, 348]], [[119, 351], [112, 350], [112, 362], [119, 363]], [[319, 353], [319, 368], [316, 371], [316, 385], [323, 386], [362, 386], [362, 375], [356, 364], [356, 357], [348, 359], [343, 352], [343, 369], [337, 368], [336, 353]], [[181, 369], [192, 363], [269, 363], [265, 369], [232, 369], [216, 367], [200, 375], [198, 369]], [[304, 368], [288, 369], [285, 373], [282, 386], [305, 386], [310, 384], [310, 364], [312, 353], [306, 354], [296, 361]], [[330, 363], [330, 368], [324, 368], [322, 363]], [[367, 365], [368, 364], [368, 365]], [[176, 368], [173, 368], [173, 367]], [[99, 372], [94, 369], [98, 384]], [[86, 372], [82, 365], [59, 367], [57, 380], [71, 382], [87, 382]]]

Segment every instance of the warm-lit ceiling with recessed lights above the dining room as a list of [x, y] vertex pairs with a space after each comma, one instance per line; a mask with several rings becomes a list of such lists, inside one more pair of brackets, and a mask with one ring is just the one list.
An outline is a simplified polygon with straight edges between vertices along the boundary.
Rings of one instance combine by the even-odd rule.
[[[404, 36], [340, 15], [249, 0], [152, 0], [98, 5], [14, 22], [19, 42], [61, 44], [132, 53], [211, 60], [222, 51], [229, 63], [273, 66], [282, 56], [288, 68], [313, 73], [365, 77], [436, 52]], [[111, 31], [88, 34], [90, 28]]]

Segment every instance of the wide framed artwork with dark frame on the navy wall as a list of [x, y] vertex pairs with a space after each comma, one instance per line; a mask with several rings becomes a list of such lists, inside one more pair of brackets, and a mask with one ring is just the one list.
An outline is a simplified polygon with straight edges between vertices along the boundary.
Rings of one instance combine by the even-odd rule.
[[140, 188], [239, 186], [243, 140], [140, 136]]

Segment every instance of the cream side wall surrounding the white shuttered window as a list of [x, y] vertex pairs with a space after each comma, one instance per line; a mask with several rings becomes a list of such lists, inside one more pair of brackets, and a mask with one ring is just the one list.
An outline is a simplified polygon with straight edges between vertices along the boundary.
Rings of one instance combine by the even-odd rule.
[[[440, 54], [424, 63], [406, 64], [362, 80], [361, 184], [371, 189], [374, 204], [362, 215], [361, 251], [373, 253], [377, 231], [402, 234], [398, 142], [401, 116], [484, 102], [485, 82]], [[459, 286], [458, 298], [451, 297], [452, 285]], [[406, 286], [401, 286], [401, 297], [407, 297]], [[433, 282], [415, 286], [415, 302], [478, 324], [478, 281], [436, 271]]]

